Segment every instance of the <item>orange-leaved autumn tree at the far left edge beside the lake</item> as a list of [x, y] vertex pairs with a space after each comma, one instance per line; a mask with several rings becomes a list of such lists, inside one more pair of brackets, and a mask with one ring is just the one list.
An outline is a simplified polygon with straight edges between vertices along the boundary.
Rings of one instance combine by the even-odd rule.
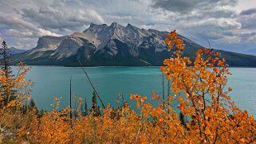
[[12, 76], [13, 80], [7, 80], [4, 69], [0, 69], [0, 84], [6, 86], [1, 89], [0, 101], [6, 100], [6, 88], [15, 89], [15, 96], [9, 101], [6, 101], [0, 109], [0, 143], [6, 143], [8, 139], [14, 139], [18, 134], [18, 128], [26, 126], [30, 123], [30, 114], [22, 111], [23, 104], [30, 99], [31, 82], [26, 80], [26, 73], [29, 67], [25, 64], [19, 63], [18, 73]]

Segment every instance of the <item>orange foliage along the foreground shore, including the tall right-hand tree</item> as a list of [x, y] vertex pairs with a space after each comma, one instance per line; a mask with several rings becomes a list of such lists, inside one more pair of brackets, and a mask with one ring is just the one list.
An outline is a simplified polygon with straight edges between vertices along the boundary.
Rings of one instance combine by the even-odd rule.
[[[159, 105], [145, 103], [146, 96], [131, 95], [140, 113], [128, 103], [114, 110], [107, 107], [101, 116], [78, 115], [69, 119], [69, 109], [45, 112], [41, 118], [31, 113], [27, 126], [19, 129], [18, 140], [32, 143], [255, 143], [256, 120], [230, 101], [225, 88], [230, 75], [226, 60], [212, 49], [198, 49], [195, 59], [183, 56], [183, 41], [175, 31], [165, 43], [174, 56], [163, 61], [161, 72], [171, 80], [168, 102], [152, 92]], [[180, 116], [181, 117], [181, 116]]]

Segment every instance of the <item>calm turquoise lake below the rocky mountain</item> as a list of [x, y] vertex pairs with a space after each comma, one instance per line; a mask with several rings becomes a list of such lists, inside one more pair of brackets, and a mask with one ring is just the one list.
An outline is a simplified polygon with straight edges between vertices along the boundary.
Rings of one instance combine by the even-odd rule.
[[[233, 74], [229, 76], [227, 83], [227, 86], [233, 89], [230, 92], [231, 100], [241, 109], [246, 109], [251, 115], [256, 116], [256, 68], [229, 69]], [[13, 71], [15, 72], [16, 68], [13, 68]], [[128, 101], [132, 107], [135, 106], [135, 102], [129, 99], [131, 93], [147, 95], [148, 99], [152, 97], [152, 91], [162, 95], [162, 75], [159, 67], [89, 67], [85, 68], [85, 71], [88, 72], [103, 102], [111, 103], [113, 107], [120, 104], [116, 102], [119, 92], [122, 92], [124, 101]], [[37, 107], [51, 110], [53, 96], [61, 97], [61, 108], [67, 107], [71, 76], [72, 94], [86, 98], [90, 105], [93, 88], [81, 68], [32, 66], [26, 77], [34, 84], [32, 98]], [[164, 83], [167, 94], [167, 81]], [[177, 103], [173, 105], [176, 107]]]

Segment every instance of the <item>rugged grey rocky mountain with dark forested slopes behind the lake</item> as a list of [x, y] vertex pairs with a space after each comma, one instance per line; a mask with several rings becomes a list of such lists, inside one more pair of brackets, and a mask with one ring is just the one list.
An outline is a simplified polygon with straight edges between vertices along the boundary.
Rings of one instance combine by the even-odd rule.
[[[26, 64], [80, 66], [148, 66], [161, 65], [171, 56], [163, 43], [167, 32], [140, 29], [133, 25], [91, 24], [82, 33], [64, 37], [45, 36], [37, 41], [37, 47], [13, 56], [13, 64], [19, 60]], [[195, 56], [201, 45], [180, 36], [186, 44], [185, 56]], [[216, 50], [223, 54], [230, 66], [256, 67], [256, 56]], [[193, 57], [191, 57], [193, 58]]]

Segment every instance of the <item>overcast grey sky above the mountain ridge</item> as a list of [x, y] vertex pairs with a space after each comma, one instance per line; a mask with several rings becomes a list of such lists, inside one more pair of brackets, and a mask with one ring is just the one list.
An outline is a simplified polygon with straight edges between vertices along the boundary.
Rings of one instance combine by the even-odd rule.
[[0, 41], [18, 49], [113, 21], [256, 55], [256, 0], [0, 0]]

